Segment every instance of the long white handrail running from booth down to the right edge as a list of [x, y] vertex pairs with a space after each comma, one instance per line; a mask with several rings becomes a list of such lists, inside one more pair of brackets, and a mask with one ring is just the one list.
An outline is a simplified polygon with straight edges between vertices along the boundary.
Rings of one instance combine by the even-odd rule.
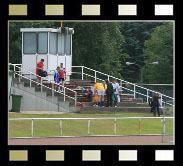
[[[83, 80], [83, 75], [87, 75], [87, 76], [89, 76], [89, 77], [91, 77], [91, 78], [95, 78], [95, 82], [96, 82], [97, 79], [98, 79], [98, 80], [101, 80], [101, 81], [104, 81], [103, 79], [97, 78], [96, 74], [99, 73], [99, 74], [102, 74], [102, 75], [104, 75], [104, 76], [107, 76], [108, 79], [109, 79], [109, 78], [113, 78], [113, 79], [116, 79], [116, 80], [120, 81], [121, 83], [133, 85], [133, 86], [134, 86], [134, 90], [131, 90], [131, 89], [129, 89], [129, 88], [125, 88], [125, 87], [123, 87], [123, 86], [121, 86], [121, 87], [122, 87], [122, 89], [126, 89], [126, 90], [129, 90], [129, 91], [133, 92], [133, 93], [134, 93], [134, 98], [135, 98], [135, 94], [136, 94], [136, 93], [137, 93], [137, 94], [141, 94], [141, 95], [143, 95], [143, 96], [146, 96], [146, 97], [147, 97], [147, 103], [148, 103], [148, 98], [152, 98], [152, 97], [150, 97], [150, 96], [148, 95], [149, 92], [158, 93], [157, 91], [153, 91], [153, 90], [151, 90], [151, 89], [148, 89], [148, 88], [139, 86], [139, 85], [137, 85], [137, 84], [135, 84], [135, 83], [131, 83], [131, 82], [122, 80], [122, 79], [120, 79], [120, 78], [116, 78], [116, 77], [114, 77], [114, 76], [111, 76], [111, 75], [109, 75], [109, 74], [105, 74], [105, 73], [103, 73], [103, 72], [100, 72], [100, 71], [91, 69], [91, 68], [89, 68], [89, 67], [85, 67], [85, 66], [72, 66], [72, 68], [82, 68], [82, 73], [81, 73], [81, 74], [82, 74], [82, 80]], [[89, 75], [89, 74], [84, 73], [84, 69], [87, 69], [87, 70], [90, 70], [90, 71], [95, 72], [95, 76], [92, 76], [92, 75]], [[137, 92], [137, 91], [135, 90], [135, 87], [138, 87], [138, 88], [141, 88], [141, 89], [146, 90], [146, 91], [147, 91], [147, 94], [144, 95], [144, 94], [142, 94], [142, 93]], [[160, 93], [160, 95], [161, 95], [161, 99], [162, 99], [162, 97], [166, 97], [166, 98], [172, 99], [172, 100], [173, 100], [173, 103], [174, 103], [174, 98], [173, 98], [173, 97], [164, 95], [164, 94], [162, 94], [162, 93]], [[174, 104], [170, 104], [170, 103], [167, 103], [167, 102], [164, 102], [164, 101], [162, 101], [162, 102], [165, 103], [165, 104], [174, 106]]]

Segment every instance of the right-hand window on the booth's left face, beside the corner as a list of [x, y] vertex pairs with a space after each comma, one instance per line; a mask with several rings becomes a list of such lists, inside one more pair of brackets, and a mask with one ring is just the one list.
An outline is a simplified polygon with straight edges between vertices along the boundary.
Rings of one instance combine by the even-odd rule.
[[38, 33], [38, 54], [48, 53], [48, 33], [40, 32]]

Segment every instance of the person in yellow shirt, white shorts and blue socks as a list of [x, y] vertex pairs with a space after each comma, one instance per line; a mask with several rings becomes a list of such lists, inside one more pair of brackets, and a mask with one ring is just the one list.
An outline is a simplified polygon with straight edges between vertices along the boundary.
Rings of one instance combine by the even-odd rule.
[[98, 106], [104, 107], [104, 94], [105, 94], [105, 89], [102, 83], [95, 83], [94, 85], [94, 94], [96, 94], [96, 91], [98, 92], [99, 96], [99, 102]]

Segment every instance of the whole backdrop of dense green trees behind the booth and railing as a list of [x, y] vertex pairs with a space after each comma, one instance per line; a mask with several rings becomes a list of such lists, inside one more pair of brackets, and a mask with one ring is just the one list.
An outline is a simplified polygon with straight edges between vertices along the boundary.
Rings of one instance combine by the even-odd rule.
[[[172, 83], [171, 22], [64, 22], [73, 27], [73, 65], [131, 82]], [[57, 28], [60, 22], [10, 22], [9, 61], [21, 63], [20, 28]], [[127, 66], [126, 62], [136, 65]], [[148, 65], [158, 61], [159, 65]], [[167, 74], [168, 73], [168, 74]]]

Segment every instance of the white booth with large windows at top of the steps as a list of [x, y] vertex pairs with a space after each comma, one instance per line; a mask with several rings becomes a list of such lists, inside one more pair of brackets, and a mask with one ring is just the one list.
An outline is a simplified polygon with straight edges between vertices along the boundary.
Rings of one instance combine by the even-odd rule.
[[44, 70], [48, 72], [48, 79], [53, 80], [53, 71], [63, 63], [67, 80], [70, 80], [73, 28], [21, 28], [20, 32], [22, 32], [22, 68], [35, 73], [37, 63], [44, 59]]

